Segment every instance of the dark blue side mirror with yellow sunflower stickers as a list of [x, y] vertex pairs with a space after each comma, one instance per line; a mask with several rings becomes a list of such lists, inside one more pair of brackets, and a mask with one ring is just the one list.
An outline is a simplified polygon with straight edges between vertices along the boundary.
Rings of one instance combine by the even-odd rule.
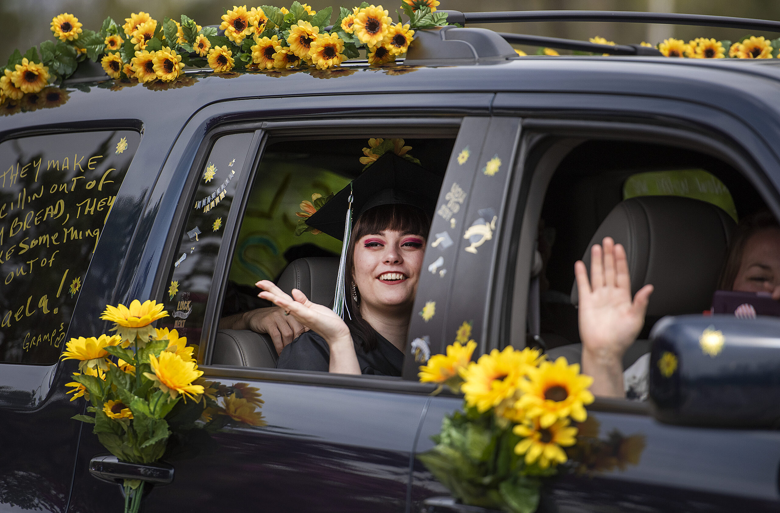
[[656, 419], [690, 426], [780, 425], [780, 318], [664, 317], [650, 336]]

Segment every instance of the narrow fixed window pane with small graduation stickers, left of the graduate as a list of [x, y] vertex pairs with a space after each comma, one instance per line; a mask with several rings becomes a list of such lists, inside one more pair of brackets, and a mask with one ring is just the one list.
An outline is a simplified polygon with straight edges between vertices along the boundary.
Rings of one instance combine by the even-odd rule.
[[223, 228], [253, 136], [249, 132], [220, 137], [197, 170], [197, 189], [188, 202], [189, 214], [165, 281], [169, 317], [158, 324], [175, 329], [190, 344], [200, 341]]

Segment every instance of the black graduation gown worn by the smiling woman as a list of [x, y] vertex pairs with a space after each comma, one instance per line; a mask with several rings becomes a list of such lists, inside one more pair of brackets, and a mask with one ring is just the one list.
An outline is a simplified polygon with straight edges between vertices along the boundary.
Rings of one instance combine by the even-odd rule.
[[[376, 333], [376, 335], [377, 348], [369, 352], [363, 350], [363, 345], [353, 335], [360, 372], [378, 376], [400, 376], [403, 367], [403, 353], [381, 334]], [[314, 331], [306, 331], [292, 344], [282, 349], [276, 368], [328, 372], [330, 361], [331, 351], [328, 342]]]

